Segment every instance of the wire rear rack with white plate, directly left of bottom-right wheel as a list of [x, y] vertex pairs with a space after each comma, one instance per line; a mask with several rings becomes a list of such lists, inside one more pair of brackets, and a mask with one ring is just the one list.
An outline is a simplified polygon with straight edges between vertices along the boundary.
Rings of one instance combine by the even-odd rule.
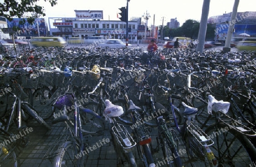
[[187, 130], [193, 137], [195, 137], [201, 146], [205, 147], [214, 144], [214, 141], [196, 124], [190, 122], [187, 126]]

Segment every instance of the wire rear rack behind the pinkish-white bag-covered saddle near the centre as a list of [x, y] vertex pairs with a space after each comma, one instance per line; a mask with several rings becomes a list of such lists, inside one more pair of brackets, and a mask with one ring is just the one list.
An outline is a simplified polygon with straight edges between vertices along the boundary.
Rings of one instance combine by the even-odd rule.
[[130, 152], [136, 145], [133, 137], [131, 137], [130, 133], [122, 124], [115, 124], [112, 127], [112, 132], [114, 133], [115, 141], [118, 142], [125, 153]]

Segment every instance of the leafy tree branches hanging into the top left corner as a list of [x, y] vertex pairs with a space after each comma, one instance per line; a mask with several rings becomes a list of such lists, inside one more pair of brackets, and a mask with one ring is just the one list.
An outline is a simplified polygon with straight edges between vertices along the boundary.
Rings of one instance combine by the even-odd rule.
[[[31, 16], [27, 19], [29, 23], [32, 23], [39, 15], [46, 15], [44, 13], [44, 7], [36, 5], [38, 1], [40, 0], [4, 0], [4, 2], [0, 3], [0, 16], [12, 20], [14, 17], [25, 18], [30, 14]], [[44, 1], [51, 3], [51, 6], [57, 4], [57, 0]]]

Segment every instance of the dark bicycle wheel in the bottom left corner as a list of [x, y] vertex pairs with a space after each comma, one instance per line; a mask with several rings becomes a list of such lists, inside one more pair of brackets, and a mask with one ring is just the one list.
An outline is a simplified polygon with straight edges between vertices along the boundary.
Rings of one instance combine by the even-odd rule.
[[[0, 164], [1, 166], [18, 166], [18, 158], [16, 157], [16, 153], [13, 150], [14, 147], [14, 143], [11, 144], [7, 144], [5, 145], [5, 147], [2, 145], [3, 143], [5, 143], [5, 140], [10, 140], [8, 137], [5, 136], [0, 136], [0, 143], [1, 143], [1, 148], [0, 148]], [[3, 151], [3, 147], [6, 149], [5, 151], [11, 151], [11, 153], [9, 155], [7, 155], [5, 152]]]

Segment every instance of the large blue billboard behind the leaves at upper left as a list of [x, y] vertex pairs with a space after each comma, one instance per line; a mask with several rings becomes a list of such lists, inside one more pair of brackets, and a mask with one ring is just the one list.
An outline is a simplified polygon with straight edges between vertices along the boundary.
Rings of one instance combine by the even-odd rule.
[[8, 28], [18, 27], [19, 31], [17, 31], [16, 36], [46, 36], [46, 22], [43, 18], [35, 19], [34, 23], [30, 24], [25, 19], [24, 24], [20, 24], [20, 20], [22, 18], [14, 18], [13, 20], [7, 20]]

